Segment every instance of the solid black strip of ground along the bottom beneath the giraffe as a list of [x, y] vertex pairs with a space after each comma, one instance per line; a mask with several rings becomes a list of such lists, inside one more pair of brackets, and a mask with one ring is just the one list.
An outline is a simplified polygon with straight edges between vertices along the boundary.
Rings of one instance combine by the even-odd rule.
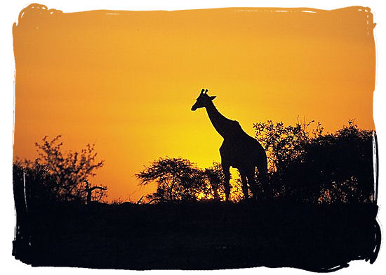
[[377, 211], [363, 203], [41, 206], [18, 219], [13, 255], [35, 267], [334, 271], [375, 261]]

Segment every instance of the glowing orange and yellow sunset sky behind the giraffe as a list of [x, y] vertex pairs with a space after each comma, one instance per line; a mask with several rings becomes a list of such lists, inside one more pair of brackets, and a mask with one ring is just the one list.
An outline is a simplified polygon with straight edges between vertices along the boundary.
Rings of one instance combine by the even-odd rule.
[[44, 135], [72, 150], [95, 142], [105, 166], [91, 182], [136, 200], [154, 187], [133, 175], [154, 159], [220, 161], [222, 138], [190, 110], [201, 88], [252, 136], [253, 122], [298, 116], [328, 132], [353, 118], [372, 129], [371, 13], [308, 11], [29, 8], [13, 29], [14, 155], [35, 158]]

